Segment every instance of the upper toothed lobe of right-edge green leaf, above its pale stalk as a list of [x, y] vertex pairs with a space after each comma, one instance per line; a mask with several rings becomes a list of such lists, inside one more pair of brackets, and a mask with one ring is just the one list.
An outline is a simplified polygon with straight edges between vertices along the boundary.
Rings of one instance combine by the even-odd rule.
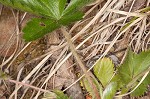
[[150, 51], [135, 54], [129, 51], [124, 63], [118, 69], [118, 75], [124, 84], [128, 84], [137, 75], [150, 66]]

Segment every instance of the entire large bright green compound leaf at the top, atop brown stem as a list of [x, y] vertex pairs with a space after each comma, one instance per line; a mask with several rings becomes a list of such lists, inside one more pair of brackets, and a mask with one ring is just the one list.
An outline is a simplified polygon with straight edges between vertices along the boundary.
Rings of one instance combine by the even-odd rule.
[[42, 17], [32, 19], [23, 29], [25, 41], [32, 41], [82, 19], [84, 13], [80, 9], [92, 1], [94, 0], [71, 0], [68, 4], [67, 0], [0, 0], [0, 3]]

